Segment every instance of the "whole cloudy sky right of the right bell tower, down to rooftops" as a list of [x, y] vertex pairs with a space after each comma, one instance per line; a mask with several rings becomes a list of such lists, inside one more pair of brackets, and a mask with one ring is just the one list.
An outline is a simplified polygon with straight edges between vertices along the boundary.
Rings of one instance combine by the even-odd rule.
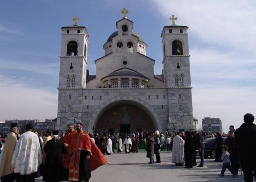
[[188, 25], [193, 114], [220, 117], [223, 131], [256, 114], [256, 1], [151, 0], [167, 18]]

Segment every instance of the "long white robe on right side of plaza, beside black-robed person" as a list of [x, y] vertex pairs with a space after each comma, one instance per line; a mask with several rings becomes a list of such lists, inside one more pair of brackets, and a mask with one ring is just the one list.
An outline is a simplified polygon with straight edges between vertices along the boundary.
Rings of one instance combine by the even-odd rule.
[[173, 138], [172, 146], [172, 163], [183, 164], [184, 163], [184, 140], [176, 135]]

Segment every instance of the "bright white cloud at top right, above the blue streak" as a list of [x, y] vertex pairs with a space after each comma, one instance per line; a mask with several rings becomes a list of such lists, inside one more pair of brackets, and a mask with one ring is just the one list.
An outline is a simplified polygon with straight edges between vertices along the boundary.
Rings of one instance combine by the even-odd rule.
[[236, 48], [255, 55], [256, 1], [254, 0], [151, 0], [166, 17], [178, 17], [178, 25], [188, 25], [198, 41], [220, 48]]

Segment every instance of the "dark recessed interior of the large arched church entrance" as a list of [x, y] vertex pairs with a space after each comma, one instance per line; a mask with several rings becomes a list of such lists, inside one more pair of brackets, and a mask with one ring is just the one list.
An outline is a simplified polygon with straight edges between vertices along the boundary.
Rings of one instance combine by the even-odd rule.
[[154, 131], [155, 122], [148, 110], [135, 103], [115, 102], [98, 115], [95, 132]]

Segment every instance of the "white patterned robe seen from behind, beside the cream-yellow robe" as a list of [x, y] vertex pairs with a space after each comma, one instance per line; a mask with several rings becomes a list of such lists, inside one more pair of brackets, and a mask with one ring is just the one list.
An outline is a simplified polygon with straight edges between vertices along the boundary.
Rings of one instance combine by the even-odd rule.
[[12, 155], [11, 165], [14, 167], [14, 173], [30, 175], [37, 172], [42, 157], [37, 134], [31, 131], [23, 133]]

